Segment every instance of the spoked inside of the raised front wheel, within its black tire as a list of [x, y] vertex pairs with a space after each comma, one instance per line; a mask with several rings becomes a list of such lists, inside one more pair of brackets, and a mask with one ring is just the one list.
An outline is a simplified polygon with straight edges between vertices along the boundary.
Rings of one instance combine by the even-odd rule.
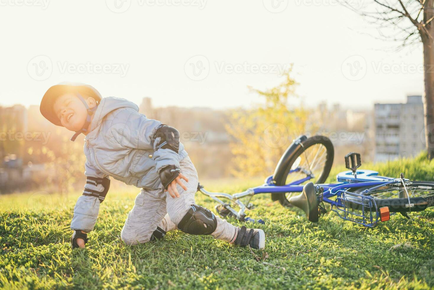
[[[291, 167], [291, 170], [296, 169], [297, 167], [302, 168], [302, 170], [288, 174], [285, 184], [303, 179], [308, 176], [307, 173], [309, 172], [312, 172], [315, 178], [305, 181], [301, 185], [305, 185], [308, 182], [318, 183], [317, 181], [321, 178], [322, 173], [324, 172], [326, 162], [327, 148], [325, 148], [324, 145], [314, 144], [309, 146], [299, 155]], [[298, 193], [287, 192], [285, 194], [286, 199], [293, 196], [293, 194]]]

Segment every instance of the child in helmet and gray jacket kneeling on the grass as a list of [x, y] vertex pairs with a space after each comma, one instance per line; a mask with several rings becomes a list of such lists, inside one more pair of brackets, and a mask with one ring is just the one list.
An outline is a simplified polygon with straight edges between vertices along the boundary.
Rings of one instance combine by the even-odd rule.
[[137, 105], [125, 99], [102, 98], [88, 85], [50, 87], [40, 111], [53, 124], [76, 132], [72, 141], [85, 135], [87, 181], [74, 207], [72, 247], [85, 247], [111, 176], [141, 188], [121, 231], [128, 245], [153, 241], [179, 229], [264, 249], [263, 230], [235, 227], [195, 204], [197, 171], [176, 129], [147, 119], [138, 113]]

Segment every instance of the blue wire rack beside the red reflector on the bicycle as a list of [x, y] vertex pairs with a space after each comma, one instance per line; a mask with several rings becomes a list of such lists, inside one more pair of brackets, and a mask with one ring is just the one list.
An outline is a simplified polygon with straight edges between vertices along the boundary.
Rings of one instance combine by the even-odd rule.
[[342, 219], [365, 227], [375, 227], [380, 221], [375, 198], [345, 190], [337, 191], [336, 196], [336, 203], [332, 204], [331, 210]]

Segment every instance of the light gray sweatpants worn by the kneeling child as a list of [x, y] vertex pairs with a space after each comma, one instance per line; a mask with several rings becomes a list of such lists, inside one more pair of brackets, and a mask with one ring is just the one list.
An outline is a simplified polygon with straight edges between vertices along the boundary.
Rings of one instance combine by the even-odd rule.
[[[176, 230], [176, 225], [187, 213], [194, 202], [194, 194], [197, 191], [197, 171], [190, 157], [180, 162], [181, 173], [188, 178], [188, 182], [182, 180], [187, 186], [187, 191], [177, 185], [179, 198], [172, 198], [164, 189], [145, 191], [142, 189], [137, 195], [134, 207], [128, 213], [121, 238], [128, 245], [146, 243], [152, 233], [158, 227], [164, 231]], [[217, 229], [211, 235], [215, 239], [230, 242], [235, 236], [235, 229], [226, 220], [217, 217]]]

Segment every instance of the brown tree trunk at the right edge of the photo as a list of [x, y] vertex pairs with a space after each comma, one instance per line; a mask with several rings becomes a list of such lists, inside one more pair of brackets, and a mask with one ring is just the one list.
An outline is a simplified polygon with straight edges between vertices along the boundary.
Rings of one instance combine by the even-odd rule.
[[[433, 1], [425, 2], [424, 23], [434, 16]], [[425, 142], [428, 158], [434, 158], [434, 26], [428, 23], [426, 30], [421, 30], [421, 40], [424, 46], [424, 82], [425, 82]]]

